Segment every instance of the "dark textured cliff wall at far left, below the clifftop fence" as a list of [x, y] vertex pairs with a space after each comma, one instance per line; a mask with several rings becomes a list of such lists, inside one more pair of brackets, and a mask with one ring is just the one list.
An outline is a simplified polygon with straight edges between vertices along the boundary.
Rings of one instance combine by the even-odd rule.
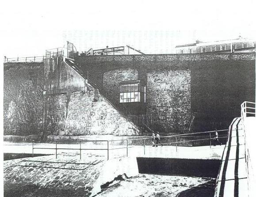
[[4, 135], [37, 134], [42, 128], [42, 63], [4, 64]]

